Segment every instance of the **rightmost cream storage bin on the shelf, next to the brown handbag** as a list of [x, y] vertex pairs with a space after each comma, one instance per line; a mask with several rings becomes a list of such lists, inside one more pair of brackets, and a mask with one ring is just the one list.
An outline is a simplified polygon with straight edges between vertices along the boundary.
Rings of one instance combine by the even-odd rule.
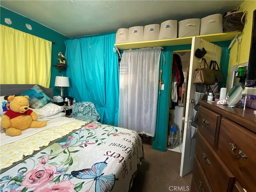
[[222, 33], [222, 14], [209, 15], [201, 19], [200, 35]]

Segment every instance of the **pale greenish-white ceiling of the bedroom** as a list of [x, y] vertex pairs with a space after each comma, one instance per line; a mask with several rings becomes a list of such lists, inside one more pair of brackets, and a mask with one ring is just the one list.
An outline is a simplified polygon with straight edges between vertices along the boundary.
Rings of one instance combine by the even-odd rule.
[[[0, 6], [69, 38], [119, 28], [202, 18], [237, 9], [244, 0], [0, 0]], [[32, 26], [33, 28], [33, 26]]]

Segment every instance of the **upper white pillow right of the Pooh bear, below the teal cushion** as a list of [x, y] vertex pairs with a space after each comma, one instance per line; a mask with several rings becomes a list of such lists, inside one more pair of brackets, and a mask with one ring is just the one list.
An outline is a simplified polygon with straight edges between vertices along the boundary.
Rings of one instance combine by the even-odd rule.
[[55, 115], [59, 112], [62, 112], [64, 110], [63, 106], [58, 106], [54, 103], [48, 103], [40, 109], [32, 109], [32, 108], [30, 108], [30, 109], [33, 110], [34, 112], [36, 112], [38, 119], [53, 116], [53, 115]]

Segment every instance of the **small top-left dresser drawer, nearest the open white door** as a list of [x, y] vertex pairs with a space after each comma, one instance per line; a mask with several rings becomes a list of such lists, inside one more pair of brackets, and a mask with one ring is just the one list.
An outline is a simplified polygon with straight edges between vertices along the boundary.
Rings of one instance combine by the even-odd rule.
[[220, 115], [203, 107], [199, 107], [198, 131], [206, 138], [208, 143], [217, 148], [218, 143], [214, 143], [216, 131], [220, 127]]

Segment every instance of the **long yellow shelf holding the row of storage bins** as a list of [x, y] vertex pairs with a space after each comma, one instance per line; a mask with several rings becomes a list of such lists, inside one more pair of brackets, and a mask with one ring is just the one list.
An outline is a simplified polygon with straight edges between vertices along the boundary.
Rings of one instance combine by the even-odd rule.
[[[235, 32], [209, 34], [209, 35], [198, 35], [196, 37], [202, 38], [208, 42], [218, 42], [218, 41], [232, 40], [236, 35], [240, 33], [241, 32], [235, 31]], [[176, 39], [119, 43], [119, 44], [115, 44], [115, 46], [120, 50], [126, 50], [126, 49], [138, 49], [138, 48], [146, 48], [146, 47], [186, 45], [186, 44], [191, 44], [191, 42], [192, 42], [192, 37], [182, 37], [182, 38], [176, 38]]]

